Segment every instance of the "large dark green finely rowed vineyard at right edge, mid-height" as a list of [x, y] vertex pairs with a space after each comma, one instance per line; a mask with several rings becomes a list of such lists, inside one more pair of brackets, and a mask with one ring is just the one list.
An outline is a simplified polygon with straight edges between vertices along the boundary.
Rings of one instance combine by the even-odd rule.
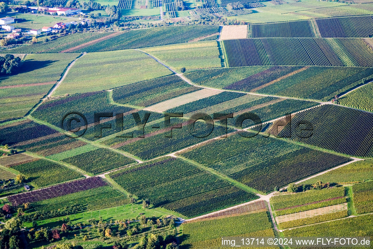
[[[373, 113], [337, 105], [319, 106], [292, 117], [292, 128], [301, 120], [307, 120], [312, 124], [313, 131], [308, 131], [303, 138], [292, 136], [289, 139], [347, 155], [371, 157], [372, 115]], [[335, 125], [331, 126], [332, 123]], [[283, 129], [279, 136], [289, 136], [289, 132], [290, 129]], [[312, 136], [308, 136], [310, 132]]]

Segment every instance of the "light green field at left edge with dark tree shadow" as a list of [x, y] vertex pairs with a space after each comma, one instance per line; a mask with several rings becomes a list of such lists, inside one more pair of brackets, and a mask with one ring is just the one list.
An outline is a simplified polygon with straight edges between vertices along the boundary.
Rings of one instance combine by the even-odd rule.
[[78, 54], [26, 55], [18, 74], [0, 77], [0, 120], [24, 116], [48, 93], [77, 56]]

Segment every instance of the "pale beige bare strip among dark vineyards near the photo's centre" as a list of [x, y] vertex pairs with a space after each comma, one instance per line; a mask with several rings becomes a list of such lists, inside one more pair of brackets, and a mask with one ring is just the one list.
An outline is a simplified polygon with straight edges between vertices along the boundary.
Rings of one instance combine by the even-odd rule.
[[166, 101], [163, 101], [161, 103], [149, 106], [148, 108], [145, 108], [144, 110], [146, 111], [151, 111], [151, 112], [164, 112], [168, 109], [185, 105], [189, 102], [193, 102], [199, 99], [207, 98], [216, 94], [221, 93], [222, 91], [220, 90], [215, 90], [215, 89], [209, 89], [209, 88], [204, 88], [200, 91], [195, 91], [192, 93], [188, 93], [173, 99], [169, 99]]

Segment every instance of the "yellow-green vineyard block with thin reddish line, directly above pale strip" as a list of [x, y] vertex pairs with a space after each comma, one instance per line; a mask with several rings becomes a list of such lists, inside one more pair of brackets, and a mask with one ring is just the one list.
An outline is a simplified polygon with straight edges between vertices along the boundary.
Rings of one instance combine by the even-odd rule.
[[305, 193], [280, 194], [271, 197], [270, 202], [276, 216], [279, 216], [345, 203], [344, 196], [344, 187], [334, 187]]

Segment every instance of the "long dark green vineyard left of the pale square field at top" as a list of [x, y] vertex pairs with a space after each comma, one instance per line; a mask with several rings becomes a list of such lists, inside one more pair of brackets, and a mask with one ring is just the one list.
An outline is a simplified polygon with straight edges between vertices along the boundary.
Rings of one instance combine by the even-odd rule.
[[[85, 47], [77, 52], [97, 52], [121, 49], [137, 49], [175, 43], [185, 43], [198, 37], [214, 34], [219, 26], [178, 26], [131, 30], [121, 35]], [[135, 38], [136, 37], [136, 38]]]

